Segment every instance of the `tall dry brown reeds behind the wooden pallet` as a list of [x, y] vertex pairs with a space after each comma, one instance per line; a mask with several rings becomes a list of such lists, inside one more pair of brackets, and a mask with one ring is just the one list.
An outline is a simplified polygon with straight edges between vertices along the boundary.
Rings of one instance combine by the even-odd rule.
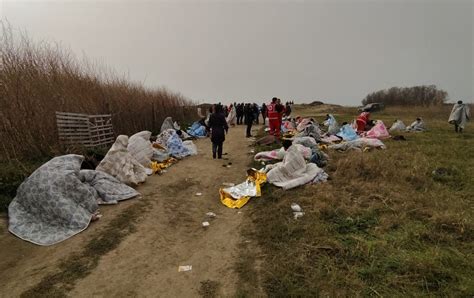
[[146, 89], [57, 44], [0, 28], [0, 161], [61, 152], [55, 111], [111, 113], [115, 133], [128, 135], [157, 131], [166, 116], [195, 116], [180, 94]]

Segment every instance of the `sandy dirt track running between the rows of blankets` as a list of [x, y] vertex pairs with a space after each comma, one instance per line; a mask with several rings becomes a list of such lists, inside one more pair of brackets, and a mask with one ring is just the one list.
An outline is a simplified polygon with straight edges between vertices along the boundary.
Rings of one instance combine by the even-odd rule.
[[[199, 154], [186, 158], [161, 176], [149, 177], [138, 190], [139, 200], [149, 208], [141, 215], [136, 231], [113, 251], [102, 256], [99, 265], [86, 278], [77, 281], [71, 296], [198, 296], [202, 281], [219, 283], [219, 296], [235, 293], [237, 276], [233, 271], [242, 241], [241, 223], [245, 208], [229, 209], [219, 201], [223, 182], [245, 179], [251, 159], [250, 142], [243, 126], [231, 128], [224, 143], [224, 157], [213, 160], [209, 139], [198, 140]], [[232, 163], [231, 167], [223, 164]], [[196, 193], [202, 193], [197, 196]], [[103, 217], [84, 232], [51, 247], [22, 241], [7, 230], [0, 230], [0, 296], [18, 296], [36, 285], [71, 253], [80, 251], [87, 241], [120, 216], [133, 199], [101, 208]], [[217, 214], [215, 219], [206, 212]], [[203, 228], [201, 223], [209, 221]], [[192, 265], [192, 271], [178, 272], [178, 266]]]

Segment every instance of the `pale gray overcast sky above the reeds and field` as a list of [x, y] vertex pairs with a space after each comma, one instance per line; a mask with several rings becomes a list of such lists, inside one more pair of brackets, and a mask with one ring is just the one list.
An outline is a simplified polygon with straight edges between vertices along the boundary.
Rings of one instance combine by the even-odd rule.
[[0, 0], [0, 13], [36, 40], [199, 101], [358, 105], [421, 84], [474, 97], [470, 0]]

